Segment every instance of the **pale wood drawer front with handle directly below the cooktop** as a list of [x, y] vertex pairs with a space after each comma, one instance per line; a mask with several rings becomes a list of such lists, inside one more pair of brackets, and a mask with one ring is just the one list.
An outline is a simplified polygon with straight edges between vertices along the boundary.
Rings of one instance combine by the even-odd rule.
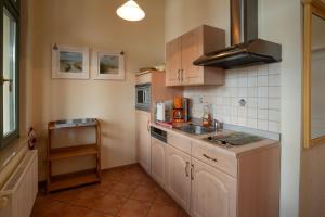
[[223, 155], [213, 146], [208, 148], [198, 142], [192, 143], [192, 156], [214, 167], [223, 170], [224, 173], [231, 175], [232, 177], [237, 177], [237, 159]]

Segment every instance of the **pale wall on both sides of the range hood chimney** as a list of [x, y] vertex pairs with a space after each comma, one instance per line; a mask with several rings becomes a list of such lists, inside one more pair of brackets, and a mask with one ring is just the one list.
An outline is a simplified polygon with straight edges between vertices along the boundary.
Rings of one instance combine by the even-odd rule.
[[[230, 41], [229, 1], [166, 0], [166, 41], [200, 24], [226, 30]], [[301, 3], [288, 0], [259, 0], [260, 38], [282, 43], [281, 216], [299, 215], [299, 169], [301, 131]]]

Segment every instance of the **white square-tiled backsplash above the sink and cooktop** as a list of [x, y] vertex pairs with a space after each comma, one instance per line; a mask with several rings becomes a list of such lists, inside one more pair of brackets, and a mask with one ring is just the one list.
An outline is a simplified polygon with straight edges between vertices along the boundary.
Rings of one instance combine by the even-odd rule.
[[[193, 117], [202, 117], [207, 102], [213, 117], [226, 124], [281, 132], [280, 72], [276, 63], [226, 71], [224, 86], [190, 87], [184, 97], [193, 100]], [[239, 105], [240, 99], [245, 106]]]

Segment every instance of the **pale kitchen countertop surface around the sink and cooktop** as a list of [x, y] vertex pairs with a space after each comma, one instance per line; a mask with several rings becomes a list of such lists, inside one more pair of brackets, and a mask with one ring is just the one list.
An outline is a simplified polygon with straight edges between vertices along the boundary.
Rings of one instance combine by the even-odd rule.
[[[190, 139], [192, 142], [200, 143], [202, 145], [205, 145], [207, 149], [216, 149], [216, 151], [218, 151], [219, 153], [222, 153], [230, 157], [236, 157], [236, 158], [238, 158], [239, 156], [249, 154], [251, 152], [257, 152], [257, 151], [261, 151], [264, 149], [273, 148], [274, 145], [280, 145], [278, 140], [263, 139], [261, 141], [252, 142], [249, 144], [225, 148], [225, 146], [222, 146], [219, 144], [210, 143], [208, 141], [205, 141], [204, 139], [211, 137], [211, 136], [230, 135], [230, 133], [236, 132], [236, 131], [224, 129], [222, 131], [205, 133], [205, 135], [191, 135], [187, 132], [183, 132], [177, 128], [170, 129], [167, 127], [159, 126], [155, 123], [152, 123], [151, 126], [156, 127], [161, 130], [165, 130], [165, 131], [167, 131], [167, 133], [177, 135], [178, 137], [183, 137], [184, 139]], [[188, 144], [188, 145], [191, 145], [191, 144]]]

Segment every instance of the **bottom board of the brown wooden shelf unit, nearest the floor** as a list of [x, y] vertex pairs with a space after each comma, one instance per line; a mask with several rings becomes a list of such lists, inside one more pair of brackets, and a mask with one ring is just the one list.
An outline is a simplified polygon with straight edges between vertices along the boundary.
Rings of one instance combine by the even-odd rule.
[[53, 176], [48, 184], [48, 191], [57, 191], [72, 187], [94, 183], [101, 181], [95, 169], [76, 171], [70, 174]]

